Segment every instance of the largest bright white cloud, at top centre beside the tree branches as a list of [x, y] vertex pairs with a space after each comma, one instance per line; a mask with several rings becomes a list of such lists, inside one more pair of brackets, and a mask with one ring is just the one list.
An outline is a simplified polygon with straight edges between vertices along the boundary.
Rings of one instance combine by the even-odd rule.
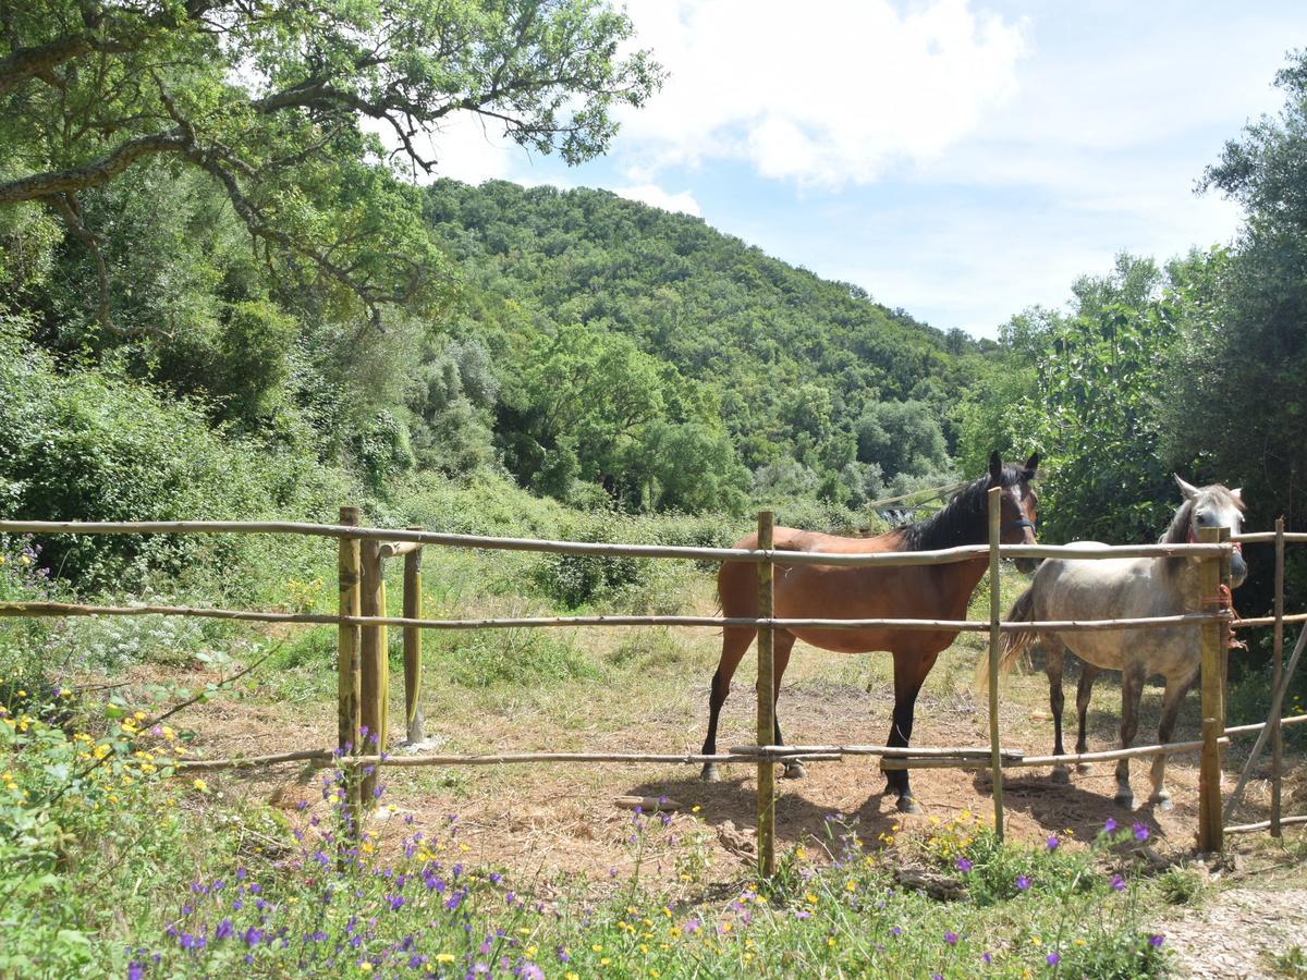
[[867, 183], [931, 158], [1016, 90], [1023, 24], [968, 0], [638, 0], [638, 43], [670, 73], [623, 114], [642, 165], [742, 159], [800, 186]]

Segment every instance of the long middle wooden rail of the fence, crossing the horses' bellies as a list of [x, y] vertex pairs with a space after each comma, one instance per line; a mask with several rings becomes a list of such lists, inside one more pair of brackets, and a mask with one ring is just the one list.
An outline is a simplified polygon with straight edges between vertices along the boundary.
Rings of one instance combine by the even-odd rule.
[[[400, 615], [333, 615], [331, 613], [271, 613], [242, 609], [205, 609], [195, 606], [101, 606], [77, 602], [0, 602], [0, 617], [64, 617], [64, 615], [174, 615], [200, 619], [234, 619], [269, 623], [318, 623], [324, 626], [410, 626], [425, 630], [540, 629], [548, 626], [771, 626], [772, 629], [808, 630], [953, 630], [983, 632], [988, 622], [972, 619], [804, 619], [719, 615], [552, 615], [485, 619], [409, 619]], [[1183, 613], [1180, 615], [1140, 617], [1133, 619], [1047, 619], [1036, 622], [1001, 622], [1004, 632], [1072, 632], [1089, 630], [1165, 629], [1197, 626], [1226, 618], [1225, 613]]]

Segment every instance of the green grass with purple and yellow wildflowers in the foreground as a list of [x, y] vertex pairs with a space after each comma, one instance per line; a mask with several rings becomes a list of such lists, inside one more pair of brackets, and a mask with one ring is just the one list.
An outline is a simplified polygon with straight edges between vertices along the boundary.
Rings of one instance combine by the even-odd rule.
[[[831, 823], [834, 865], [796, 848], [765, 887], [745, 875], [723, 890], [702, 883], [697, 817], [635, 813], [633, 872], [595, 887], [464, 864], [452, 817], [341, 851], [340, 827], [293, 827], [170, 777], [171, 733], [131, 706], [74, 706], [73, 734], [39, 707], [0, 724], [0, 972], [971, 976], [988, 958], [1006, 977], [1165, 963], [1141, 925], [1146, 881], [1117, 891], [1091, 851], [1000, 844], [975, 821], [890, 848]], [[676, 852], [681, 885], [640, 877], [654, 847]], [[904, 860], [965, 896], [899, 887]]]

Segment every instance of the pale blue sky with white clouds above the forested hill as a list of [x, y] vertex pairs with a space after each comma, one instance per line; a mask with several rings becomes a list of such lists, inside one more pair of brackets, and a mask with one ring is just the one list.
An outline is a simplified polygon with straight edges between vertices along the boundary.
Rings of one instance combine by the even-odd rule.
[[1233, 239], [1195, 195], [1281, 105], [1307, 3], [630, 0], [670, 77], [601, 159], [566, 167], [456, 122], [443, 175], [604, 187], [942, 329], [1063, 306], [1119, 251]]

